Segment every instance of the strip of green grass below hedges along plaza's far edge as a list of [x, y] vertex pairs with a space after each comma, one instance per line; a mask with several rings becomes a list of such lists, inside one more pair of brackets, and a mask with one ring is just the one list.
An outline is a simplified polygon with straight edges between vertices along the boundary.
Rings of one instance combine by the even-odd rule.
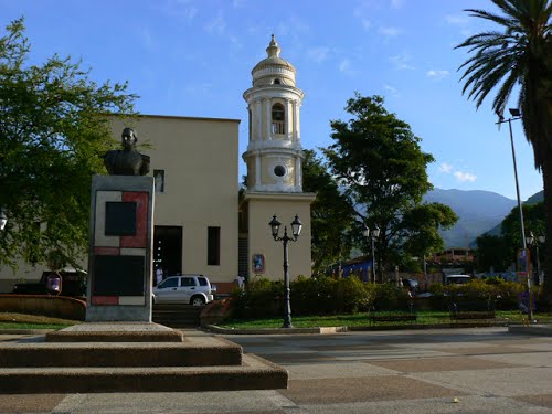
[[[416, 325], [450, 325], [447, 311], [420, 310], [416, 312]], [[534, 318], [539, 322], [552, 322], [552, 314], [535, 314]], [[503, 322], [521, 323], [523, 317], [516, 310], [497, 310], [496, 320]], [[220, 323], [224, 328], [234, 329], [262, 329], [280, 328], [283, 317], [266, 319], [230, 319]], [[295, 328], [318, 328], [318, 327], [365, 327], [370, 325], [368, 314], [352, 315], [326, 315], [326, 316], [293, 316]], [[408, 326], [412, 321], [376, 322], [378, 325]]]

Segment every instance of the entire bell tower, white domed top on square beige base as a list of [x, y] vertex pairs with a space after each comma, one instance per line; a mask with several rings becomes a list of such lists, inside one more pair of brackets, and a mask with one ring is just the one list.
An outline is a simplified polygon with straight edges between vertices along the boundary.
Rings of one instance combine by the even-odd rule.
[[282, 243], [274, 241], [268, 222], [276, 215], [283, 230], [287, 226], [291, 231], [289, 223], [297, 215], [302, 233], [289, 248], [290, 276], [309, 277], [310, 203], [316, 195], [302, 192], [299, 109], [304, 93], [296, 86], [296, 68], [279, 56], [274, 34], [266, 53], [268, 56], [253, 67], [253, 85], [243, 94], [250, 132], [242, 155], [247, 164], [247, 189], [240, 203], [240, 263], [247, 268], [240, 272], [250, 279], [280, 279]]

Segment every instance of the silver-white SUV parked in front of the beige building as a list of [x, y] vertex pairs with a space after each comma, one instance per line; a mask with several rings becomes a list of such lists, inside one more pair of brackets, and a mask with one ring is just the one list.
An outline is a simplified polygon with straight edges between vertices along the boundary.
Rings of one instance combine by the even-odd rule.
[[203, 306], [214, 300], [216, 286], [203, 275], [169, 276], [153, 287], [153, 304]]

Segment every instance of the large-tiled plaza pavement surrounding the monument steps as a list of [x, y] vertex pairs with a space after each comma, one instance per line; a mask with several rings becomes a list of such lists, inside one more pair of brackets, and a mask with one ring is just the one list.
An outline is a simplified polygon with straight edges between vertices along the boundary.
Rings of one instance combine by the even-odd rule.
[[224, 337], [286, 368], [289, 388], [0, 395], [0, 413], [552, 414], [550, 336], [465, 328]]

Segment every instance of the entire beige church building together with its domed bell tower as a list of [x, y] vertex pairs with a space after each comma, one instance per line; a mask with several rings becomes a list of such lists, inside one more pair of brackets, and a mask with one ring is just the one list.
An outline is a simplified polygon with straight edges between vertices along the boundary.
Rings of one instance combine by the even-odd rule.
[[[240, 197], [237, 119], [140, 116], [132, 124], [113, 123], [136, 130], [141, 150], [151, 157], [156, 178], [153, 262], [167, 275], [199, 273], [230, 289], [240, 274], [283, 278], [283, 244], [274, 241], [268, 222], [282, 222], [280, 236], [296, 215], [302, 232], [289, 245], [290, 275], [310, 276], [310, 203], [302, 192], [300, 106], [296, 70], [279, 57], [274, 36], [267, 59], [252, 71], [252, 87], [244, 93], [248, 107], [247, 190]], [[20, 278], [33, 280], [40, 269], [14, 275], [0, 269], [0, 291]]]

